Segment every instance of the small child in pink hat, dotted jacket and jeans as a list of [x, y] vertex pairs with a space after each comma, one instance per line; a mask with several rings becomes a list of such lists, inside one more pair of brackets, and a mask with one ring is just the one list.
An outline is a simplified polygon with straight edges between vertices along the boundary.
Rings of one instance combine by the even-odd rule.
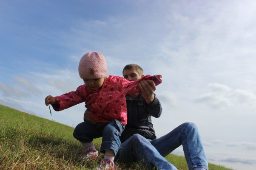
[[162, 76], [146, 75], [138, 81], [127, 81], [125, 78], [113, 75], [106, 77], [105, 57], [98, 52], [89, 52], [82, 56], [78, 71], [85, 84], [79, 86], [76, 91], [57, 97], [47, 96], [46, 106], [51, 104], [54, 110], [61, 111], [85, 102], [85, 107], [90, 110], [91, 117], [97, 123], [86, 121], [78, 124], [73, 136], [85, 148], [82, 154], [87, 160], [98, 156], [92, 141], [94, 138], [102, 137], [100, 151], [105, 153], [105, 156], [95, 170], [104, 168], [113, 170], [116, 168], [113, 162], [114, 156], [121, 146], [119, 136], [127, 124], [125, 95], [138, 93], [137, 84], [141, 79], [151, 79], [158, 85], [162, 82]]

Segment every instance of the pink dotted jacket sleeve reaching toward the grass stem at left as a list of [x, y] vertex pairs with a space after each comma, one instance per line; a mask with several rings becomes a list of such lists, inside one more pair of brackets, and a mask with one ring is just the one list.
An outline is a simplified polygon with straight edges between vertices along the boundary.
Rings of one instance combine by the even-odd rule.
[[57, 103], [59, 103], [59, 106], [53, 106], [55, 111], [68, 109], [85, 101], [85, 86], [81, 85], [77, 88], [76, 91], [68, 92], [54, 98], [56, 99]]

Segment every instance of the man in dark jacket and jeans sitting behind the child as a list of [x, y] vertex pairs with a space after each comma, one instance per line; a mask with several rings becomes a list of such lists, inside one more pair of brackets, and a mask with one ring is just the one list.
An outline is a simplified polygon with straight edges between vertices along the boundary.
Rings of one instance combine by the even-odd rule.
[[[127, 80], [135, 81], [143, 76], [137, 64], [128, 64], [123, 69]], [[121, 134], [121, 148], [116, 158], [122, 161], [142, 162], [149, 169], [177, 170], [164, 157], [180, 145], [183, 146], [189, 170], [208, 170], [208, 162], [196, 125], [183, 123], [170, 133], [156, 139], [151, 116], [159, 117], [162, 106], [156, 98], [153, 81], [142, 80], [138, 84], [141, 93], [126, 96], [128, 122]], [[85, 112], [85, 120], [91, 121]]]

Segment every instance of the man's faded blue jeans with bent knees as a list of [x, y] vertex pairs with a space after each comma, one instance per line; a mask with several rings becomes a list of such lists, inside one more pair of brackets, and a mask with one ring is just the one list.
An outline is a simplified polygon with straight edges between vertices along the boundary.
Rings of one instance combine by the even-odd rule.
[[177, 170], [164, 157], [182, 145], [188, 169], [203, 167], [208, 170], [208, 162], [202, 147], [202, 140], [194, 123], [183, 123], [170, 133], [158, 139], [148, 140], [139, 134], [122, 143], [116, 159], [143, 162], [149, 169]]

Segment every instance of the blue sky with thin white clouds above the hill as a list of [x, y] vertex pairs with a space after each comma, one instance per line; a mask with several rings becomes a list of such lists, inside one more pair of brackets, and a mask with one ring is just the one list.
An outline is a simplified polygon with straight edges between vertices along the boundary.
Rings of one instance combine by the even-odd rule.
[[[0, 0], [0, 104], [75, 127], [85, 103], [45, 106], [83, 84], [78, 63], [105, 56], [161, 74], [161, 137], [197, 125], [210, 163], [256, 168], [255, 0]], [[182, 155], [182, 147], [174, 153]]]

